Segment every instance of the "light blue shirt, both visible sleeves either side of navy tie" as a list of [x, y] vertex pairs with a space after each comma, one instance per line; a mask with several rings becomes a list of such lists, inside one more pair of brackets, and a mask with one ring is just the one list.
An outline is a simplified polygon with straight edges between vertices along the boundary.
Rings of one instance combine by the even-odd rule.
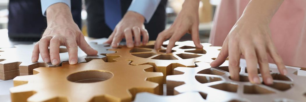
[[[133, 0], [128, 11], [134, 11], [141, 14], [146, 19], [146, 23], [148, 23], [157, 9], [160, 1], [161, 0]], [[70, 0], [40, 0], [40, 2], [43, 16], [46, 16], [47, 8], [55, 3], [65, 3], [71, 9]]]

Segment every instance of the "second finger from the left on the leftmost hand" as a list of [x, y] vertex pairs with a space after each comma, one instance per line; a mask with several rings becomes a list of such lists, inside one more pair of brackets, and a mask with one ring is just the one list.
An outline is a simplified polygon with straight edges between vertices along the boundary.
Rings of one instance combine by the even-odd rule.
[[50, 44], [50, 40], [52, 39], [52, 37], [47, 36], [47, 37], [43, 37], [39, 40], [39, 52], [40, 52], [40, 56], [43, 59], [43, 62], [50, 62], [50, 54], [49, 54], [49, 44]]

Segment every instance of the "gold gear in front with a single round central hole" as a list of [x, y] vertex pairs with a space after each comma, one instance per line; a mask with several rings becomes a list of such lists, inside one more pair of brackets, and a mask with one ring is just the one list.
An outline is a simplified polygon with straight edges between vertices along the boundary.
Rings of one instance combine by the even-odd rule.
[[[34, 75], [17, 76], [10, 89], [12, 102], [129, 102], [139, 92], [162, 94], [162, 73], [146, 72], [150, 65], [130, 61], [87, 63], [34, 69]], [[115, 66], [114, 66], [115, 65]]]

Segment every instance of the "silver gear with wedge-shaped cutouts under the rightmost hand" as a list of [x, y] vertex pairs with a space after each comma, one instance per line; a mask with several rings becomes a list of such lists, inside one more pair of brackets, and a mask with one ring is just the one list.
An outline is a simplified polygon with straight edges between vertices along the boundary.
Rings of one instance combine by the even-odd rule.
[[[240, 69], [240, 81], [230, 79], [228, 66], [212, 68], [209, 63], [197, 62], [195, 68], [177, 67], [175, 75], [167, 76], [167, 94], [176, 95], [190, 91], [207, 94], [212, 102], [305, 102], [305, 78], [298, 76], [296, 69], [287, 68], [284, 76], [276, 68], [270, 68], [273, 85], [252, 84], [244, 66]], [[258, 69], [259, 72], [259, 69]], [[260, 80], [262, 81], [259, 72]]]

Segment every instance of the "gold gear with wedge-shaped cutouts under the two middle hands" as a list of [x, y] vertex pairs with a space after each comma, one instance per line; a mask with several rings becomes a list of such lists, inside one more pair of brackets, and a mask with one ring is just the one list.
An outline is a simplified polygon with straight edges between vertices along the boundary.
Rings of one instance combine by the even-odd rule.
[[131, 65], [149, 64], [154, 67], [154, 72], [172, 75], [176, 67], [195, 67], [194, 62], [212, 62], [221, 47], [211, 47], [210, 43], [202, 43], [203, 49], [196, 49], [193, 41], [176, 42], [171, 53], [165, 53], [168, 42], [164, 42], [161, 49], [154, 49], [154, 42], [149, 41], [147, 45], [128, 48], [124, 45], [120, 49], [110, 49], [116, 53], [106, 54], [107, 61], [131, 60]]

